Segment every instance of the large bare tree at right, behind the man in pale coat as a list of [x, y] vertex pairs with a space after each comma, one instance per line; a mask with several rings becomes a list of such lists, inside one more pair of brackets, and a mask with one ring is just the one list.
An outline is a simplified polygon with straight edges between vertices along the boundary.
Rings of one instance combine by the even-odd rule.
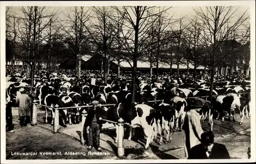
[[[214, 75], [215, 75], [215, 67], [216, 67], [216, 54], [217, 48], [222, 43], [224, 39], [234, 31], [236, 31], [248, 18], [246, 16], [246, 12], [242, 13], [241, 16], [234, 18], [236, 12], [239, 8], [234, 7], [224, 7], [224, 6], [214, 6], [214, 7], [206, 7], [205, 9], [199, 8], [199, 10], [195, 10], [199, 16], [199, 19], [202, 21], [202, 28], [205, 33], [203, 35], [206, 41], [206, 45], [209, 47], [210, 54], [210, 67], [211, 67], [211, 78], [210, 78], [210, 100], [212, 95], [212, 89], [214, 87]], [[232, 21], [232, 24], [225, 28], [225, 24], [227, 21]]]

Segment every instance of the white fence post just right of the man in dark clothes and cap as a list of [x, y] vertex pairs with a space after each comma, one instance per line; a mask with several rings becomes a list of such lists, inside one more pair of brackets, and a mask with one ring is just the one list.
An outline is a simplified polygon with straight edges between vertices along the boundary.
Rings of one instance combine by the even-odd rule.
[[117, 156], [123, 157], [124, 155], [124, 147], [123, 147], [123, 119], [120, 118], [118, 120], [118, 145], [117, 145]]

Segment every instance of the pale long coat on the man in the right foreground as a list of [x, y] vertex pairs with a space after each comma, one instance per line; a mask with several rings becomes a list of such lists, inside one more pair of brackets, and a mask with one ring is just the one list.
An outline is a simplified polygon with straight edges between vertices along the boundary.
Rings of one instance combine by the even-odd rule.
[[190, 149], [201, 144], [201, 134], [204, 132], [197, 111], [190, 110], [186, 113], [183, 130], [185, 131], [185, 154], [188, 157]]

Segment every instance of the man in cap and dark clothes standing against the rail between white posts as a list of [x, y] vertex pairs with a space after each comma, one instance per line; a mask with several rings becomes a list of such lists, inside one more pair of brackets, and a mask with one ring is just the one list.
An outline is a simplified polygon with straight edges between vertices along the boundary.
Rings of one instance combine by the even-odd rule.
[[[100, 120], [100, 117], [103, 117], [105, 111], [99, 105], [98, 101], [92, 102], [93, 108], [88, 111], [86, 122], [84, 123], [84, 128], [90, 126], [89, 130], [89, 150], [92, 150], [93, 144], [95, 143], [95, 148], [98, 151], [101, 151], [99, 147], [99, 133], [104, 121]], [[83, 130], [86, 132], [86, 130]], [[83, 136], [87, 136], [86, 133]]]

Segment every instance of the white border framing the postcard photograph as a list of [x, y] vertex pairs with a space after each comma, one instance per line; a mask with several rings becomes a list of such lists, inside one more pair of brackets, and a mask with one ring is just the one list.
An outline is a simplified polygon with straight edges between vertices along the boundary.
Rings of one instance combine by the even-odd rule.
[[[61, 4], [61, 5], [60, 5]], [[250, 7], [251, 19], [251, 91], [255, 91], [255, 1], [64, 1], [64, 2], [35, 2], [35, 1], [13, 1], [13, 2], [0, 2], [1, 14], [1, 163], [52, 163], [52, 160], [6, 160], [6, 132], [5, 132], [5, 7], [6, 6], [247, 6]], [[254, 85], [253, 85], [254, 84]], [[251, 93], [251, 159], [231, 159], [231, 160], [207, 160], [207, 162], [255, 162], [255, 92]], [[172, 160], [113, 160], [113, 159], [83, 159], [83, 160], [54, 160], [54, 163], [125, 163], [125, 162], [138, 162], [138, 163], [166, 163], [166, 162], [193, 162], [202, 163], [206, 160], [187, 160], [187, 159], [172, 159]]]

